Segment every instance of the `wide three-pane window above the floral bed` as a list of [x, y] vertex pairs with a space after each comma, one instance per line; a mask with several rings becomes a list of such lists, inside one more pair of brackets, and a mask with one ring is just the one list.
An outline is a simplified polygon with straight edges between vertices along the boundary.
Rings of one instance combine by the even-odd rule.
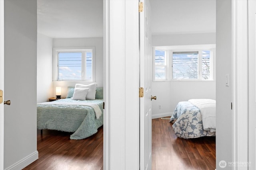
[[212, 80], [212, 49], [154, 49], [154, 80]]

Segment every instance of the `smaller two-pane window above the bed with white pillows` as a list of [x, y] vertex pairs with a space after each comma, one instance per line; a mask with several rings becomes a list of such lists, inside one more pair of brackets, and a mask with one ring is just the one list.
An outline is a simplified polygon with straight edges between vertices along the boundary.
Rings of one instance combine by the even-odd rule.
[[54, 48], [57, 81], [94, 81], [94, 47]]

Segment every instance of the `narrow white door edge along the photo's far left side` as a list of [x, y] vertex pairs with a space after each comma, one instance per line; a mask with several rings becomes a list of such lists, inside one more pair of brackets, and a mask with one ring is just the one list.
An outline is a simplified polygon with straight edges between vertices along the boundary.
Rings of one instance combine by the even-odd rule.
[[[0, 89], [4, 91], [4, 0], [0, 0]], [[4, 96], [3, 96], [4, 98]], [[0, 104], [0, 170], [4, 169], [4, 104]]]

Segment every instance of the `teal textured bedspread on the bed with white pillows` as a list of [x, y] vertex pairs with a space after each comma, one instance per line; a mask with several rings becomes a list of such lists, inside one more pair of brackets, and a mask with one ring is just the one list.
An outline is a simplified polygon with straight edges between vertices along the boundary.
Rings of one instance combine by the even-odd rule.
[[37, 129], [74, 132], [70, 139], [84, 139], [103, 125], [103, 114], [96, 119], [94, 109], [81, 105], [60, 105], [60, 102], [88, 102], [98, 104], [103, 113], [103, 100], [56, 100], [51, 104], [37, 104]]

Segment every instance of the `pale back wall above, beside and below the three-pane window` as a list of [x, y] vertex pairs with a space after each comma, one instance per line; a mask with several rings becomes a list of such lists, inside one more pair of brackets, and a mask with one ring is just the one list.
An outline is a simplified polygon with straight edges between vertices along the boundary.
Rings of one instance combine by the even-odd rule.
[[[210, 45], [216, 43], [215, 35], [215, 33], [153, 35], [152, 46]], [[155, 101], [152, 101], [152, 118], [170, 116], [180, 101], [192, 98], [216, 99], [215, 54], [215, 50], [213, 50], [214, 75], [212, 81], [152, 82], [152, 95], [157, 97]]]

